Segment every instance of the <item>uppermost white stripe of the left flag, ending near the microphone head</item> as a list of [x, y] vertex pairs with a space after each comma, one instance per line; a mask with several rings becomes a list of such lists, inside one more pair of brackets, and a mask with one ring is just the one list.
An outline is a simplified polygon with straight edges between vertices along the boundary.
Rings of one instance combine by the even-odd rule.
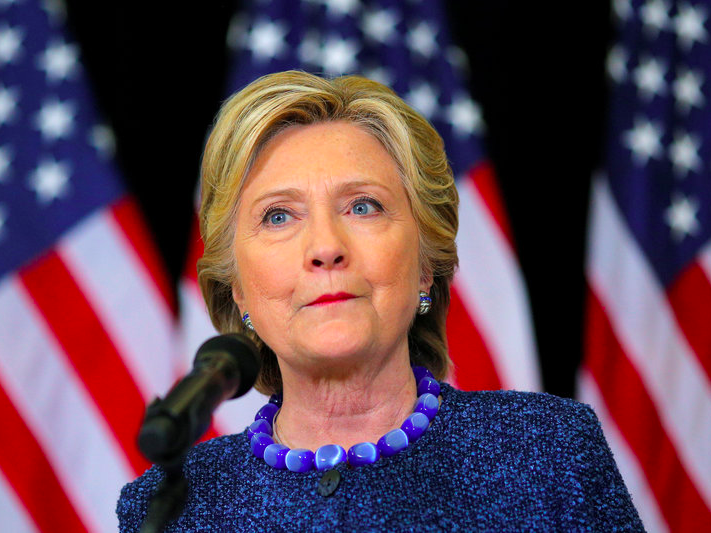
[[[144, 400], [163, 393], [180, 375], [175, 323], [146, 267], [107, 211], [85, 219], [57, 251], [111, 343], [121, 354]], [[110, 262], [107, 258], [110, 258]], [[129, 312], [134, 309], [140, 312]]]

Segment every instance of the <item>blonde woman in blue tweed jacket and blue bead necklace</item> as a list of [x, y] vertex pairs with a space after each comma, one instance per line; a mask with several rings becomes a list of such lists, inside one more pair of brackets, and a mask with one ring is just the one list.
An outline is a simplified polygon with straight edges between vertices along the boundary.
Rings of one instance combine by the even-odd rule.
[[[284, 72], [224, 104], [199, 280], [274, 396], [190, 453], [171, 530], [642, 530], [588, 407], [437, 382], [457, 204], [441, 139], [380, 84]], [[122, 531], [162, 476], [124, 488]]]

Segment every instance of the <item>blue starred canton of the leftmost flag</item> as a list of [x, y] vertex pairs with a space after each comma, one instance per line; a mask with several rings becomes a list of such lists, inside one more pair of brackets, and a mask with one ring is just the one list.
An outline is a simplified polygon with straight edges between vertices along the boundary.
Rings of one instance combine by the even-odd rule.
[[0, 276], [122, 192], [61, 6], [0, 2]]

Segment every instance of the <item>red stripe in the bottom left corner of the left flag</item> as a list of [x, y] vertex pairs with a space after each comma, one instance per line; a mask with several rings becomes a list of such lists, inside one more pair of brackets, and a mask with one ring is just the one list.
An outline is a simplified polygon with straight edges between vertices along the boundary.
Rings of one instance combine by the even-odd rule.
[[[0, 469], [40, 531], [87, 531], [40, 445], [0, 387]], [[60, 527], [61, 524], [61, 527]]]

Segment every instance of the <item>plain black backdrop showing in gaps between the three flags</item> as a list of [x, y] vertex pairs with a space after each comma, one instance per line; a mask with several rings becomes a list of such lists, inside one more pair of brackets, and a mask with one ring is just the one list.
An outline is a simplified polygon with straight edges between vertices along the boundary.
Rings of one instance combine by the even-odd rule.
[[[185, 261], [205, 133], [225, 96], [227, 27], [240, 4], [68, 1], [119, 164], [174, 282]], [[545, 389], [572, 396], [588, 193], [605, 125], [609, 6], [451, 0], [447, 9], [488, 126]]]

